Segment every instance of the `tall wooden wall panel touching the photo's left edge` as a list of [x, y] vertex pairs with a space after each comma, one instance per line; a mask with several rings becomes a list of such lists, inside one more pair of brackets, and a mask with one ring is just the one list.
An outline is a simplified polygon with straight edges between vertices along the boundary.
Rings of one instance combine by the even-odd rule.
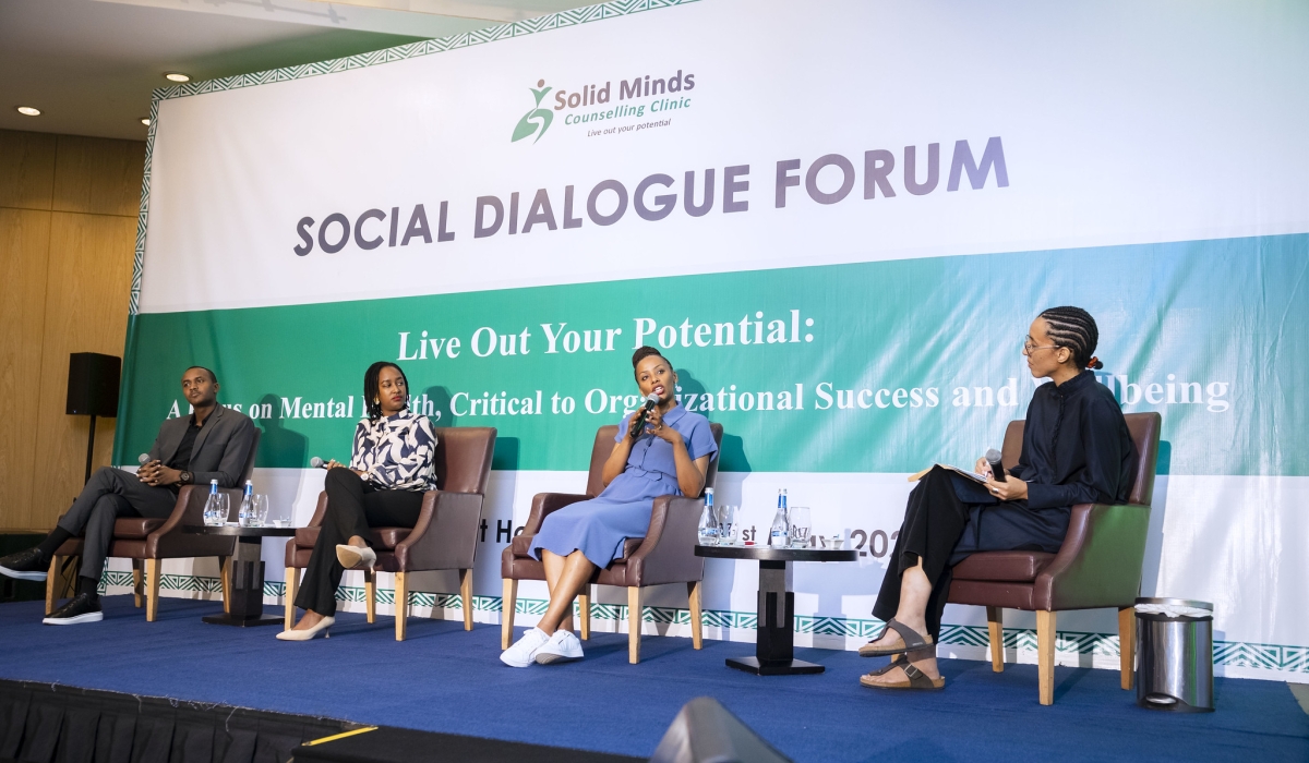
[[50, 219], [50, 212], [0, 208], [0, 527], [43, 526], [30, 508], [37, 399], [48, 383], [41, 355]]

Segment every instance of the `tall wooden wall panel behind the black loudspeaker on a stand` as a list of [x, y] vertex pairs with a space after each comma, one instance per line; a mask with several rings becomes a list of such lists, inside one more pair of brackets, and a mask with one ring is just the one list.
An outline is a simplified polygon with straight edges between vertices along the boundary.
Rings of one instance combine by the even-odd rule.
[[[135, 216], [52, 213], [31, 500], [39, 526], [81, 491], [90, 420], [64, 412], [68, 355], [123, 353], [135, 242]], [[114, 420], [98, 419], [93, 469], [109, 465], [113, 440]]]

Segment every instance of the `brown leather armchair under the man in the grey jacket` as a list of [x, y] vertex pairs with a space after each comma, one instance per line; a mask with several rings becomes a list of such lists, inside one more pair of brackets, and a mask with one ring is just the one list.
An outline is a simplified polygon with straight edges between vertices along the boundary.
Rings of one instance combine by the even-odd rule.
[[[245, 484], [254, 474], [254, 458], [259, 452], [259, 429], [254, 431], [254, 442], [250, 445], [250, 454], [241, 469], [240, 484]], [[226, 493], [233, 506], [241, 504], [242, 488], [219, 488]], [[203, 535], [187, 533], [186, 525], [204, 523], [204, 503], [209, 496], [209, 486], [187, 484], [177, 493], [177, 504], [173, 513], [166, 520], [145, 517], [120, 517], [114, 521], [114, 541], [109, 544], [109, 556], [118, 556], [132, 560], [132, 595], [136, 606], [145, 603], [145, 622], [153, 623], [158, 615], [160, 594], [160, 563], [165, 559], [190, 559], [195, 556], [217, 556], [221, 569], [223, 609], [232, 606], [232, 573], [228, 558], [232, 556], [236, 538], [221, 535]], [[233, 508], [233, 510], [236, 510]], [[46, 612], [55, 609], [56, 585], [60, 580], [59, 564], [68, 556], [81, 556], [82, 539], [69, 538], [64, 541], [50, 560], [50, 573], [46, 576]], [[141, 563], [145, 564], [145, 580], [141, 580]], [[147, 589], [143, 593], [143, 588]]]

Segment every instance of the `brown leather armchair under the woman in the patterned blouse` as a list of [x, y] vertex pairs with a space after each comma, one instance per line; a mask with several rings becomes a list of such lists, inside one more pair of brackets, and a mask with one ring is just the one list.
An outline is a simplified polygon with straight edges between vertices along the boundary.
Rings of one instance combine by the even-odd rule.
[[[418, 523], [410, 527], [373, 527], [372, 546], [377, 551], [374, 572], [364, 572], [368, 622], [377, 620], [377, 573], [395, 576], [395, 640], [404, 640], [408, 614], [406, 575], [429, 569], [458, 569], [463, 601], [463, 630], [473, 630], [473, 561], [478, 550], [478, 521], [491, 475], [495, 453], [493, 427], [437, 427], [436, 487], [423, 493]], [[318, 527], [327, 510], [327, 493], [318, 493], [318, 508], [309, 526], [296, 530], [287, 541], [287, 623], [296, 623], [296, 589], [300, 571], [309, 567], [309, 555], [318, 542]]]

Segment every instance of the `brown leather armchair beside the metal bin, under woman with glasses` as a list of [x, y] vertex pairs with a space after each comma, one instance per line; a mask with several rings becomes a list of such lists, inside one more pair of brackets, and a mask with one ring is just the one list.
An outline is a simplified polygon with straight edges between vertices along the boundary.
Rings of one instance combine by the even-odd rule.
[[[1055, 612], [1059, 610], [1118, 610], [1122, 687], [1132, 688], [1136, 650], [1132, 607], [1141, 585], [1162, 420], [1158, 414], [1127, 414], [1126, 419], [1138, 453], [1126, 504], [1075, 505], [1058, 554], [986, 551], [954, 568], [949, 602], [986, 607], [994, 671], [1004, 670], [1003, 609], [1037, 612], [1041, 704], [1055, 700]], [[1024, 421], [1011, 421], [1004, 433], [1007, 467], [1018, 462], [1022, 428]]]

